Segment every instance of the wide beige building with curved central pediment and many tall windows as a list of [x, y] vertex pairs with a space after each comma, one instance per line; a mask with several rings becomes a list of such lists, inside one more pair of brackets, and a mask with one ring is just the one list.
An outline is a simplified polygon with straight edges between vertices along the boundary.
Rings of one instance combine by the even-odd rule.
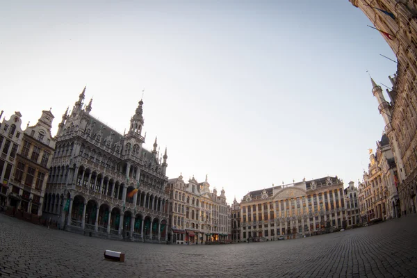
[[241, 240], [277, 240], [345, 227], [343, 181], [323, 177], [247, 193], [240, 202]]

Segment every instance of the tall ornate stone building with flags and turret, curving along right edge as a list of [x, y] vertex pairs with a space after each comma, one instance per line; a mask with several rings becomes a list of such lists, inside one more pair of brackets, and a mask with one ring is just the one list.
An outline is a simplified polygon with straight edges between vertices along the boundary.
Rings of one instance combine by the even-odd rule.
[[[416, 213], [417, 193], [417, 3], [400, 0], [350, 0], [360, 8], [397, 57], [397, 72], [388, 90], [391, 102], [378, 98], [398, 168], [402, 215]], [[373, 83], [373, 92], [378, 97]], [[386, 115], [385, 111], [389, 111]]]

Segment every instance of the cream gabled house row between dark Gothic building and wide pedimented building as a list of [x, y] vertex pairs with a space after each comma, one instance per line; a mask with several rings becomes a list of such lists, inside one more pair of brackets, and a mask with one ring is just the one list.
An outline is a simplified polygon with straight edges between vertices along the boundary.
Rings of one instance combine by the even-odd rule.
[[174, 244], [210, 244], [231, 241], [230, 206], [225, 191], [220, 195], [206, 180], [191, 178], [186, 183], [180, 174], [170, 179], [166, 192], [170, 196], [170, 242]]

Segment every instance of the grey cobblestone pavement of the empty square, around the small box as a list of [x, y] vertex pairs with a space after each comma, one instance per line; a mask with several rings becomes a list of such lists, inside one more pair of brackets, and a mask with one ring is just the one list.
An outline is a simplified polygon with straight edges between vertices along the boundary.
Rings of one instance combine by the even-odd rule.
[[[323, 236], [232, 245], [90, 238], [0, 214], [0, 277], [417, 277], [417, 215]], [[118, 263], [104, 250], [126, 254]]]

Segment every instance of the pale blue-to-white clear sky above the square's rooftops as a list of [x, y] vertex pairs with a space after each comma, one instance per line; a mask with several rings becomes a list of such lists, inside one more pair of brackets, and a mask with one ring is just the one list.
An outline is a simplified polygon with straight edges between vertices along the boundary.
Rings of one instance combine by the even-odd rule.
[[227, 202], [304, 177], [357, 186], [381, 139], [366, 71], [390, 87], [396, 64], [379, 54], [395, 55], [348, 0], [1, 6], [4, 117], [51, 108], [55, 135], [87, 86], [92, 115], [122, 133], [145, 89], [144, 147], [158, 136], [170, 179], [208, 174]]

